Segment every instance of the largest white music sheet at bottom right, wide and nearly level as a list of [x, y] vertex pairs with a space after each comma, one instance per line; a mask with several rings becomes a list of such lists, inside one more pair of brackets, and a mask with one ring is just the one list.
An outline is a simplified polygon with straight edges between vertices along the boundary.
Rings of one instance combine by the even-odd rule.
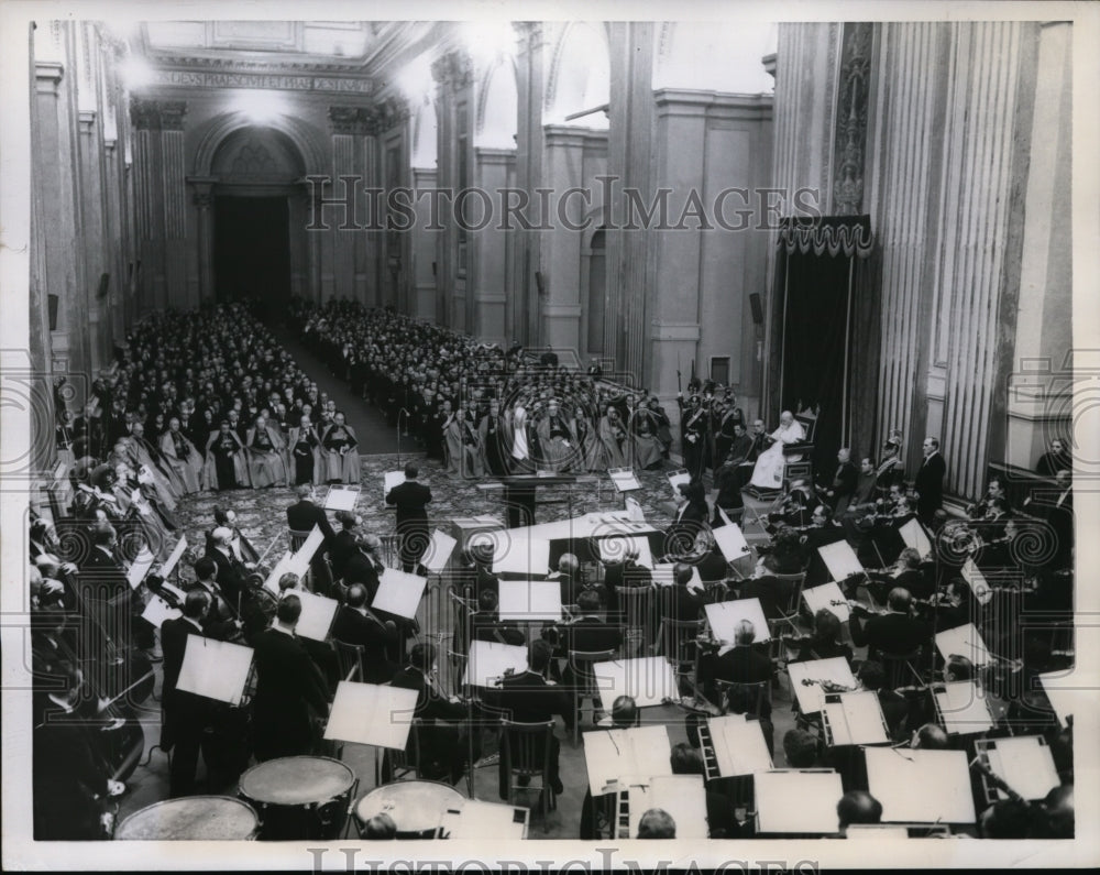
[[966, 751], [866, 747], [864, 756], [883, 823], [974, 823]]

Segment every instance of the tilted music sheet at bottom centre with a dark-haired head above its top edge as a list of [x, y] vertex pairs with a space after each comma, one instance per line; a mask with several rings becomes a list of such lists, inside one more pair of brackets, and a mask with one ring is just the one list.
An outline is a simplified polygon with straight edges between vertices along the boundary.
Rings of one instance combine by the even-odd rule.
[[664, 725], [597, 730], [581, 737], [593, 796], [672, 774], [672, 745]]

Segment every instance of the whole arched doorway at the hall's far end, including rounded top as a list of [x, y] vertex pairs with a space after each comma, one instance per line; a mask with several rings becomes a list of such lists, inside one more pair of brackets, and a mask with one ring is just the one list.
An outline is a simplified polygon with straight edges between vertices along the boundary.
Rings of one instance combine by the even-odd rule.
[[[286, 134], [242, 128], [227, 136], [211, 161], [213, 284], [218, 300], [257, 297], [263, 311], [289, 303], [294, 277], [306, 274], [298, 181], [305, 166]], [[270, 306], [268, 306], [270, 305]]]

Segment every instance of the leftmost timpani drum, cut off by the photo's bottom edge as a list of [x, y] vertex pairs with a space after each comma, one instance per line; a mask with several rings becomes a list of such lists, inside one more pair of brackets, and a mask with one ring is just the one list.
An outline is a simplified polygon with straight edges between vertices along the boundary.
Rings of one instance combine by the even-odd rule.
[[135, 811], [114, 830], [123, 841], [239, 842], [256, 838], [260, 818], [231, 796], [187, 796]]

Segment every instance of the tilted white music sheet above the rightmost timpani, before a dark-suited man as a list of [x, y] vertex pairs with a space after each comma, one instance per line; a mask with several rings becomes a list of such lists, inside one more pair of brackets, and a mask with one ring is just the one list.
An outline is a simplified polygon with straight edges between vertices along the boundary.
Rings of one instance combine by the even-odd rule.
[[324, 726], [328, 741], [404, 751], [417, 691], [341, 680]]

